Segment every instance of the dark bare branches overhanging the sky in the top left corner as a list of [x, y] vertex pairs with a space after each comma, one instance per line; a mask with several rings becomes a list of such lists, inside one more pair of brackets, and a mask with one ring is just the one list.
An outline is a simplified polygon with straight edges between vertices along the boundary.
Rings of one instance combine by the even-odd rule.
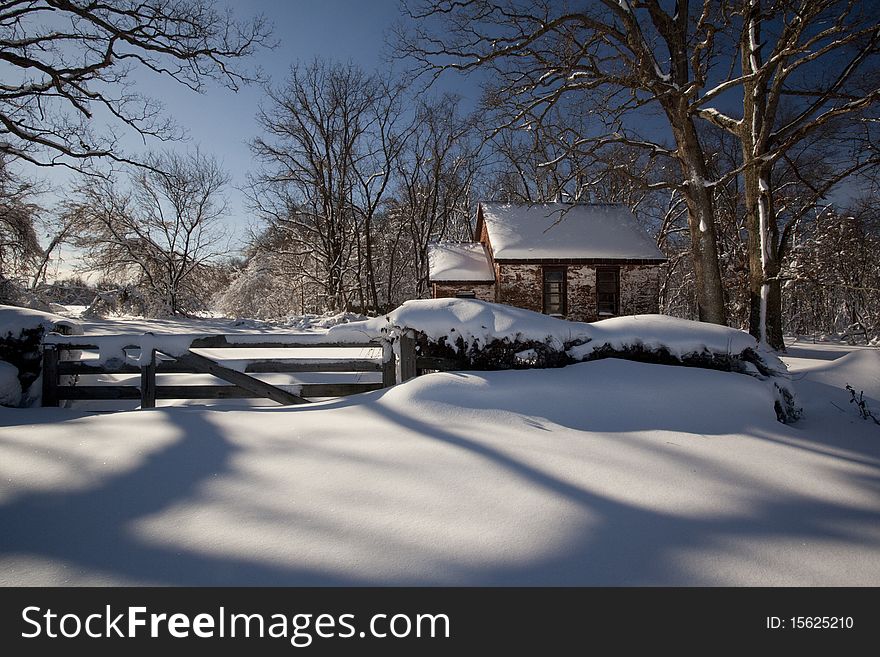
[[2, 0], [0, 154], [41, 166], [127, 160], [120, 128], [177, 134], [161, 104], [138, 93], [135, 71], [195, 91], [206, 80], [236, 89], [252, 76], [233, 64], [268, 33], [264, 19], [236, 22], [210, 0]]

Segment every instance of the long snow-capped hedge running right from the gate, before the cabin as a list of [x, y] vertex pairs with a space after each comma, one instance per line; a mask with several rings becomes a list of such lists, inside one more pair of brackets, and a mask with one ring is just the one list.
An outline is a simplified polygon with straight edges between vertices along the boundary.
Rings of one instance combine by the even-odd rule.
[[474, 299], [407, 301], [384, 317], [330, 329], [416, 338], [419, 354], [461, 369], [562, 367], [625, 358], [739, 372], [767, 381], [783, 422], [800, 415], [788, 370], [746, 333], [665, 315], [616, 317], [592, 324]]

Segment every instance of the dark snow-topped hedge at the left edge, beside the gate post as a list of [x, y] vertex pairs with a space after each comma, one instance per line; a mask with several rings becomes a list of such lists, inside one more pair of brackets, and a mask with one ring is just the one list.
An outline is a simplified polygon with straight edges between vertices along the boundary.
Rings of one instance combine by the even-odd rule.
[[[81, 335], [73, 320], [18, 306], [0, 306], [0, 403], [19, 406], [34, 401], [39, 386], [41, 343], [48, 332]], [[16, 382], [18, 387], [16, 387]]]

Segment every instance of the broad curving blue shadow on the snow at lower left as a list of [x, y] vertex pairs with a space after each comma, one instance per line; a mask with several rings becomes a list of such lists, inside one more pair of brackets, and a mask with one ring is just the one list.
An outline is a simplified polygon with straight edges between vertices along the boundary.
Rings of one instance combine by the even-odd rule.
[[228, 473], [237, 450], [204, 412], [148, 412], [163, 413], [180, 437], [96, 488], [29, 493], [0, 505], [0, 556], [60, 561], [74, 583], [79, 576], [186, 586], [358, 583], [332, 573], [164, 547], [137, 536], [137, 521], [198, 498], [200, 486]]

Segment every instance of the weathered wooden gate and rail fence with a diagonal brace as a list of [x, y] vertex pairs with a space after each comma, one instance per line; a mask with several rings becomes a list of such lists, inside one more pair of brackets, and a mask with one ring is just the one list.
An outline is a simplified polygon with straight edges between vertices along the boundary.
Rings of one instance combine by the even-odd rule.
[[[126, 337], [130, 344], [120, 346]], [[339, 397], [392, 386], [397, 381], [396, 359], [390, 343], [381, 340], [363, 342], [324, 342], [322, 336], [256, 336], [209, 335], [197, 336], [188, 348], [181, 350], [163, 347], [163, 339], [178, 344], [182, 336], [61, 336], [50, 335], [43, 344], [43, 406], [58, 406], [62, 400], [140, 400], [141, 408], [153, 408], [159, 399], [241, 399], [265, 398], [279, 404], [303, 404], [317, 397]], [[404, 338], [400, 359], [400, 380], [416, 374], [414, 344]], [[116, 345], [113, 347], [113, 345]], [[234, 356], [209, 357], [209, 349], [271, 349], [297, 350], [315, 348], [346, 348], [380, 350], [378, 357], [250, 358]], [[102, 349], [115, 348], [118, 356], [107, 358]], [[163, 348], [165, 351], [163, 351]], [[98, 351], [101, 358], [95, 362], [81, 359], [71, 352]], [[132, 352], [137, 356], [133, 356]], [[169, 353], [170, 352], [170, 353]], [[73, 355], [74, 358], [70, 358]], [[67, 356], [67, 357], [66, 357]], [[244, 371], [233, 369], [221, 361], [247, 361]], [[267, 383], [254, 374], [299, 373], [379, 373], [374, 382], [296, 383], [295, 392]], [[105, 383], [81, 385], [79, 377], [98, 374], [140, 374], [137, 384]], [[162, 385], [157, 375], [209, 374], [221, 379], [221, 385]]]

